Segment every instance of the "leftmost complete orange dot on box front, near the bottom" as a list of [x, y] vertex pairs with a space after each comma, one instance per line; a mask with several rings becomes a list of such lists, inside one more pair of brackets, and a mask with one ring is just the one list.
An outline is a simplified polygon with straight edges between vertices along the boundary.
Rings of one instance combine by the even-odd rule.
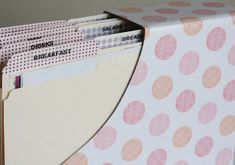
[[122, 159], [125, 161], [133, 161], [139, 157], [142, 150], [142, 142], [139, 139], [131, 139], [122, 147]]

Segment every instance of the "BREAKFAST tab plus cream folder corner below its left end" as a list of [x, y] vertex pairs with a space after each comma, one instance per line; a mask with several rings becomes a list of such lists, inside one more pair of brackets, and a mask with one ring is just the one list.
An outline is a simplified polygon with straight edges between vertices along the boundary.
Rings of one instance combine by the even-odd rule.
[[2, 97], [5, 99], [8, 92], [15, 89], [16, 77], [22, 71], [43, 69], [48, 66], [63, 64], [95, 55], [97, 55], [97, 45], [94, 40], [64, 44], [13, 55], [8, 61], [7, 66], [3, 69], [3, 72], [7, 74], [3, 74], [2, 76]]

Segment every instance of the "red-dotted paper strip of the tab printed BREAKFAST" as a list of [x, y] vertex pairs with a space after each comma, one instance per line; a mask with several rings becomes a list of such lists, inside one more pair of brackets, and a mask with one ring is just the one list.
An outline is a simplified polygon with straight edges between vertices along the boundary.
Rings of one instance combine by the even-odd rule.
[[[7, 66], [4, 67], [2, 72], [3, 74], [19, 74], [25, 71], [43, 69], [66, 62], [93, 57], [97, 55], [97, 49], [97, 42], [90, 40], [19, 53], [9, 59]], [[57, 55], [35, 60], [35, 56], [53, 53], [57, 53]]]

